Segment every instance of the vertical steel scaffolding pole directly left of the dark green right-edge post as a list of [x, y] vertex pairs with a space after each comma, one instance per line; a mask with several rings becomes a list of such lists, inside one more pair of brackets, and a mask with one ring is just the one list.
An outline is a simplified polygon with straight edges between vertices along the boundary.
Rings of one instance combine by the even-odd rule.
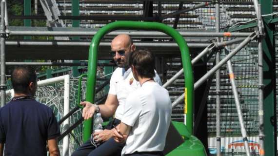
[[[256, 0], [254, 0], [256, 1]], [[255, 2], [254, 2], [255, 4]], [[254, 6], [256, 8], [256, 6]], [[262, 57], [262, 34], [263, 28], [262, 28], [262, 19], [261, 19], [261, 10], [260, 10], [260, 4], [258, 4], [258, 10], [257, 10], [257, 19], [258, 19], [258, 31], [259, 31], [259, 37], [258, 37], [258, 137], [259, 137], [259, 155], [264, 156], [264, 134], [263, 134], [263, 57]]]

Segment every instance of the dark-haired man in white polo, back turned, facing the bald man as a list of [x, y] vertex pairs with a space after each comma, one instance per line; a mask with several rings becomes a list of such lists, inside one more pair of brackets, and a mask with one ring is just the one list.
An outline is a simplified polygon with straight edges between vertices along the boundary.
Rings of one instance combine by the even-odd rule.
[[163, 156], [172, 112], [169, 93], [153, 80], [155, 61], [149, 51], [131, 53], [128, 64], [141, 87], [127, 97], [114, 139], [126, 141], [122, 156]]

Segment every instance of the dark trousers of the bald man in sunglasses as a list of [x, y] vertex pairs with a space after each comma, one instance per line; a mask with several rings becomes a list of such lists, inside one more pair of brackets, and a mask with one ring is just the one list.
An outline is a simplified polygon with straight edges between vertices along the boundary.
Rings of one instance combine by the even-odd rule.
[[[105, 129], [112, 129], [120, 123], [120, 120], [114, 118]], [[72, 156], [120, 156], [124, 144], [116, 142], [113, 138], [98, 145], [97, 148], [92, 145], [89, 139], [81, 145]]]

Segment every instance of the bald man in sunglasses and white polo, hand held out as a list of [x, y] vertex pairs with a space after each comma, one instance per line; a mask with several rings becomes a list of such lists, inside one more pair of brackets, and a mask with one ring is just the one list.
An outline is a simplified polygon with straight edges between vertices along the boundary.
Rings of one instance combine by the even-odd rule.
[[[93, 117], [95, 113], [101, 113], [102, 117], [113, 117], [115, 114], [115, 118], [103, 131], [95, 132], [91, 139], [80, 146], [72, 156], [120, 156], [124, 144], [118, 143], [113, 139], [113, 131], [115, 131], [114, 128], [117, 128], [123, 116], [123, 108], [127, 96], [140, 87], [140, 83], [133, 77], [127, 63], [127, 56], [135, 49], [136, 47], [131, 37], [126, 34], [118, 35], [112, 40], [110, 54], [118, 68], [111, 76], [107, 99], [104, 104], [100, 105], [87, 101], [80, 104], [85, 106], [82, 111], [84, 119]], [[161, 85], [161, 80], [157, 73], [154, 81]], [[95, 144], [94, 142], [97, 142], [97, 147], [93, 145]]]

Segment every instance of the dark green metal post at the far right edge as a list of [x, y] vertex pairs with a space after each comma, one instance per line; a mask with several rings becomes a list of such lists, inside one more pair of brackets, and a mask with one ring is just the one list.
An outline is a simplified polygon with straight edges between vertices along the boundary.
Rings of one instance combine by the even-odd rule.
[[[259, 0], [261, 14], [273, 13], [273, 0]], [[276, 119], [276, 58], [273, 16], [264, 17], [265, 38], [262, 39], [263, 49], [263, 122], [264, 122], [264, 151], [265, 156], [277, 155], [277, 119]], [[273, 20], [274, 22], [275, 20]]]

